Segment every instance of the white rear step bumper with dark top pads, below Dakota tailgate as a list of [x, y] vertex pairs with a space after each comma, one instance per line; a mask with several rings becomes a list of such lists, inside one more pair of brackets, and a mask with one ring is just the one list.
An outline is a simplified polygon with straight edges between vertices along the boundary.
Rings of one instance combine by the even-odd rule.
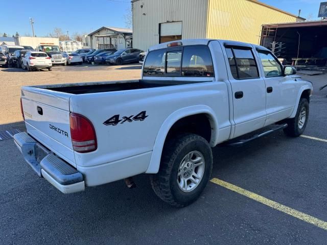
[[39, 177], [43, 177], [63, 193], [85, 190], [83, 175], [54, 155], [26, 132], [14, 135], [14, 142]]

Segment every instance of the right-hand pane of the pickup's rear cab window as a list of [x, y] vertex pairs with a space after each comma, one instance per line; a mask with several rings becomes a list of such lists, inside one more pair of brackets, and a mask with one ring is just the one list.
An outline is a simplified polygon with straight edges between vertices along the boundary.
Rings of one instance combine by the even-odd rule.
[[207, 46], [184, 47], [182, 76], [213, 77], [214, 66]]

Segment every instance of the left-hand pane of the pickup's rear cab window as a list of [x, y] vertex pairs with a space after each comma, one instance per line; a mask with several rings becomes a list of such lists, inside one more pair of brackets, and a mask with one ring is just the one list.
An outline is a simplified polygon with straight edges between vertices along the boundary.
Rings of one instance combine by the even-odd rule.
[[144, 63], [145, 76], [163, 75], [165, 73], [166, 50], [155, 50], [148, 54]]

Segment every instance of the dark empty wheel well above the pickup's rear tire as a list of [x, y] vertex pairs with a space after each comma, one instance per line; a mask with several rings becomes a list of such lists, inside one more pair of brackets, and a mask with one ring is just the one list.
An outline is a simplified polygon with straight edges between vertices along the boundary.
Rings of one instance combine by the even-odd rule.
[[176, 134], [194, 133], [202, 136], [208, 142], [210, 142], [211, 129], [211, 124], [206, 114], [186, 116], [176, 121], [170, 128], [166, 140], [174, 138]]

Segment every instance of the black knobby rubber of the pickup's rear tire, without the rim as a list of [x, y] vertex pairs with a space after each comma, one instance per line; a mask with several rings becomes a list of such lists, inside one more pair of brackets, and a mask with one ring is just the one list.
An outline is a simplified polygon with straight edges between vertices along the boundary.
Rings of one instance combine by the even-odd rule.
[[[178, 168], [183, 158], [192, 151], [198, 151], [204, 158], [204, 171], [197, 186], [184, 192], [178, 181]], [[192, 165], [191, 165], [192, 166]], [[209, 181], [213, 166], [212, 150], [208, 142], [196, 134], [182, 134], [168, 139], [162, 151], [160, 168], [157, 174], [150, 176], [152, 189], [166, 203], [175, 207], [185, 207], [198, 199]]]

